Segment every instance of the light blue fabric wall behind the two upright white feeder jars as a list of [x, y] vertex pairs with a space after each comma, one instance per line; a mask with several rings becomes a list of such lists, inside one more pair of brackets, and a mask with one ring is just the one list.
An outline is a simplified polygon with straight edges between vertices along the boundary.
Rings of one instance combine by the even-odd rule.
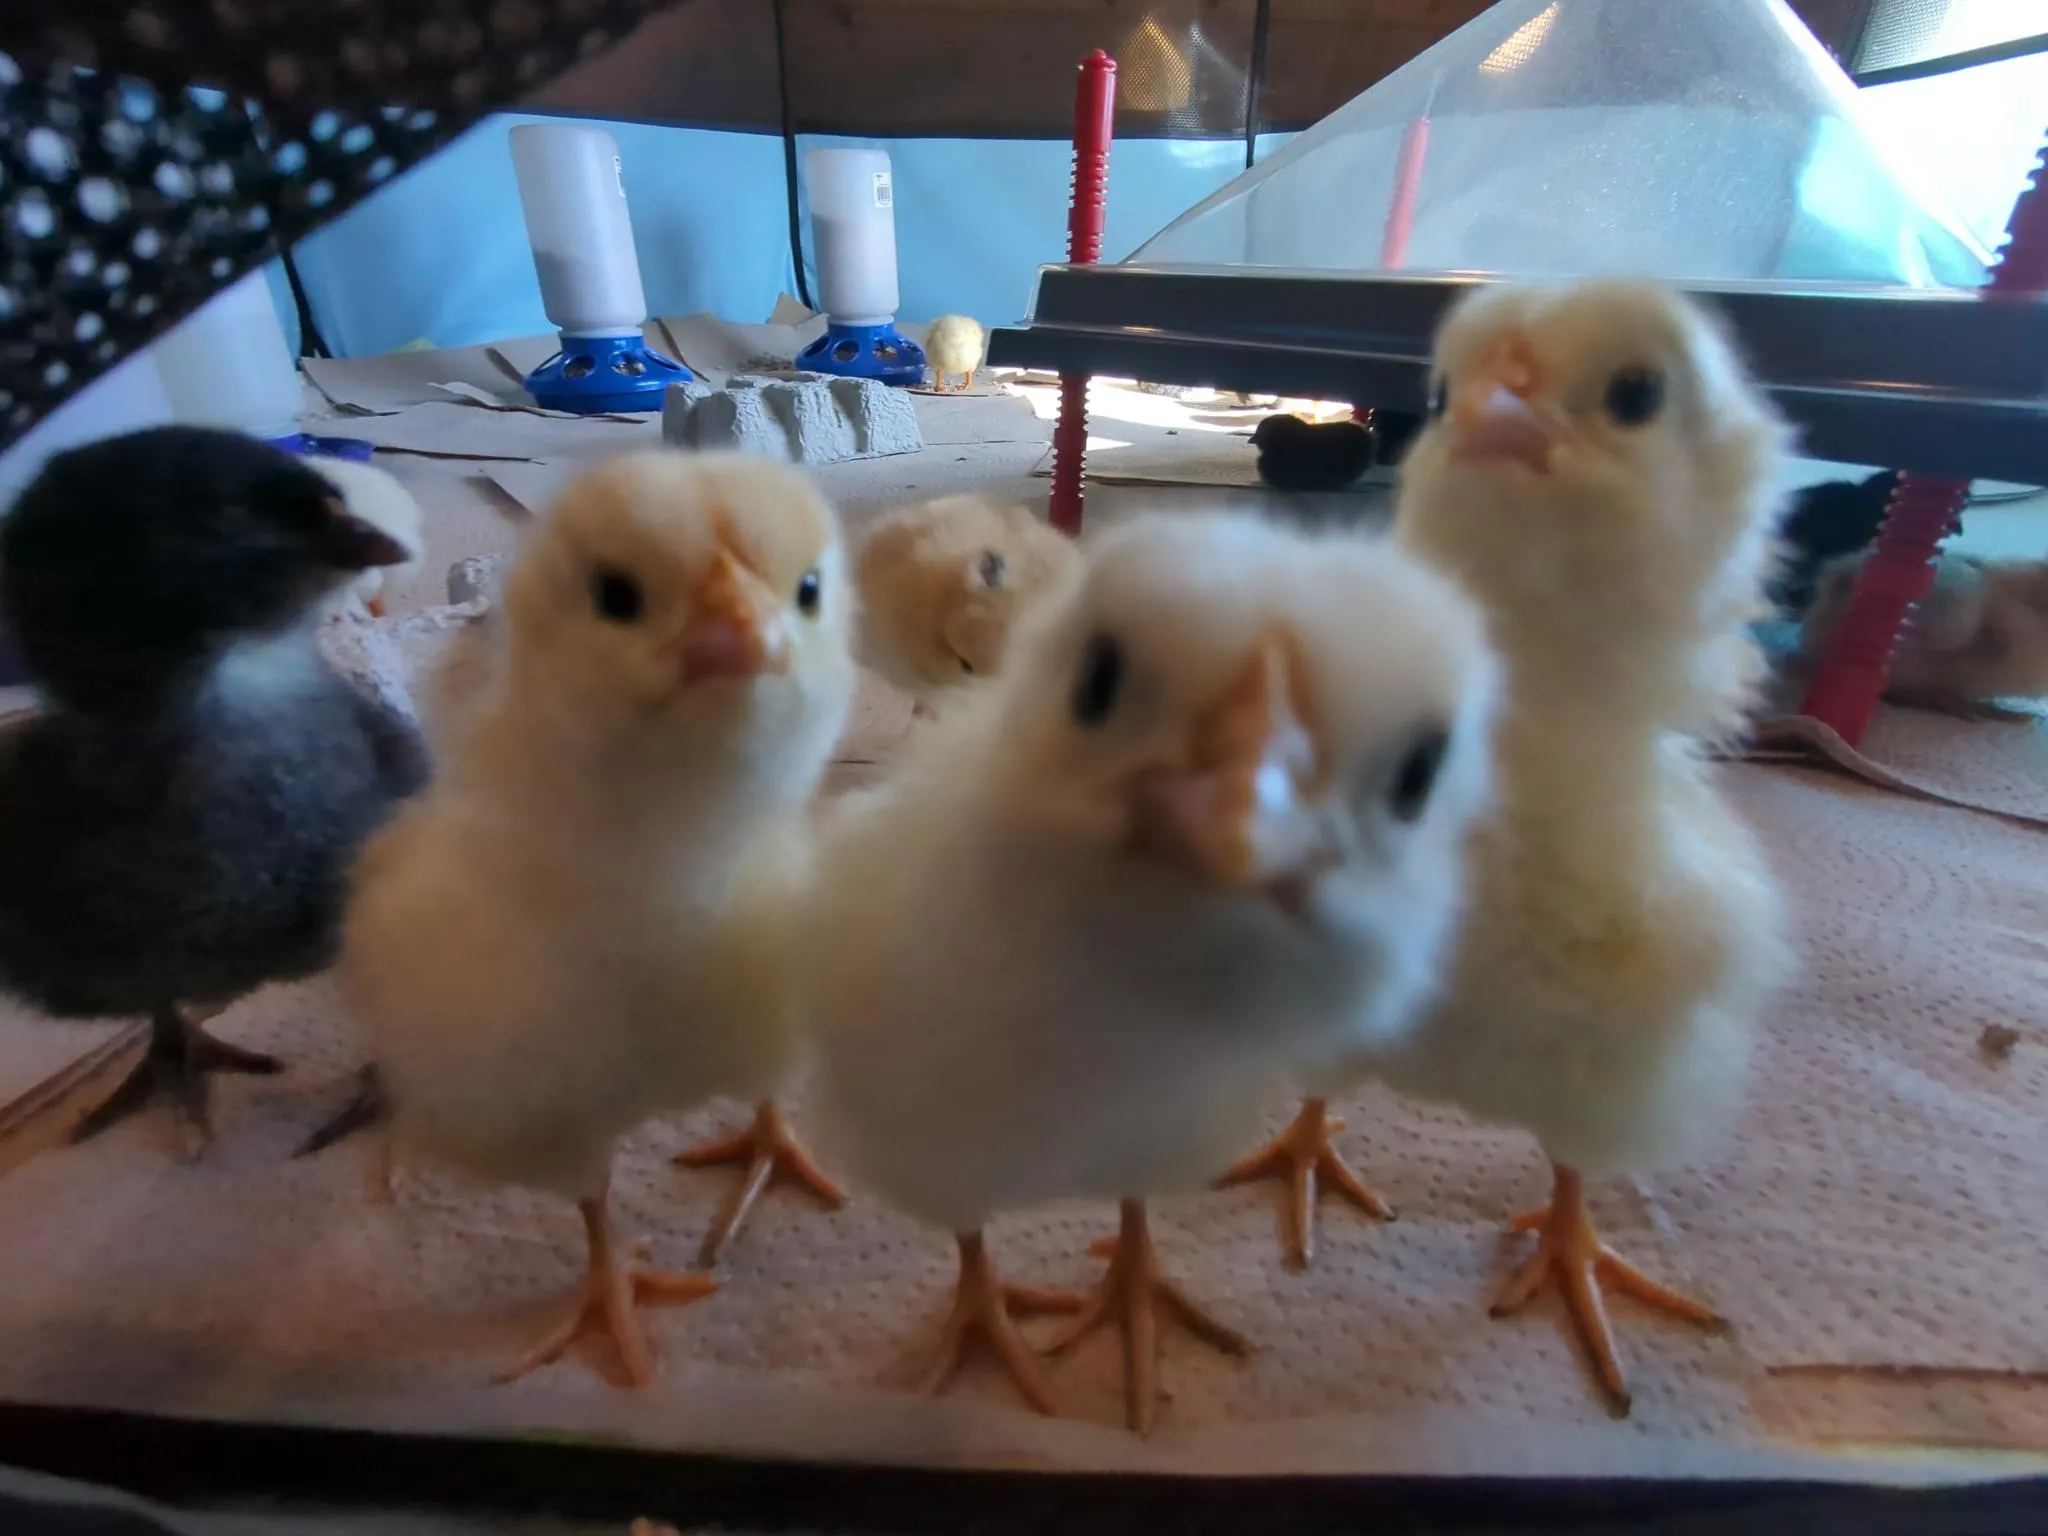
[[[492, 117], [297, 248], [313, 317], [342, 356], [547, 330], [506, 131]], [[653, 313], [766, 319], [795, 293], [782, 141], [606, 123], [618, 139], [641, 279]], [[1284, 135], [1260, 139], [1260, 152]], [[905, 319], [948, 311], [1016, 319], [1032, 272], [1067, 252], [1067, 143], [1032, 139], [799, 139], [870, 143], [895, 168]], [[1112, 150], [1104, 256], [1116, 260], [1243, 170], [1243, 145], [1126, 139]], [[805, 254], [809, 256], [809, 227]], [[287, 332], [291, 299], [279, 285]], [[813, 285], [815, 293], [815, 285]]]

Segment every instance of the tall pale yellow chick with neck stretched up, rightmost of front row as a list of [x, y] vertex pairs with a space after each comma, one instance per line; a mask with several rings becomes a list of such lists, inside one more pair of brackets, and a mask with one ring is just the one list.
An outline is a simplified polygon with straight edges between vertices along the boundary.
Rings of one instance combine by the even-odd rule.
[[1729, 340], [1653, 285], [1491, 289], [1444, 324], [1395, 539], [1462, 580], [1507, 666], [1501, 811], [1401, 1087], [1536, 1133], [1554, 1169], [1497, 1311], [1556, 1284], [1618, 1411], [1614, 1286], [1712, 1321], [1604, 1247], [1583, 1178], [1698, 1155], [1735, 1116], [1786, 911], [1704, 739], [1761, 674], [1788, 432]]

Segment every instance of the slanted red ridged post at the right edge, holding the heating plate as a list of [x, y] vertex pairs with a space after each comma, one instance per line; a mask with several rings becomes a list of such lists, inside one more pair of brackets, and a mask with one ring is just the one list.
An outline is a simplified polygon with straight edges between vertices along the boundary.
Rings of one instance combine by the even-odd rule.
[[[2013, 215], [2005, 223], [2005, 250], [1991, 270], [1989, 289], [2048, 291], [2048, 145], [2013, 203]], [[1833, 727], [1851, 748], [1864, 739], [1878, 713], [1907, 614], [1933, 588], [1942, 541], [1960, 526], [1968, 494], [1968, 479], [1913, 473], [1898, 477], [1878, 541], [1855, 575], [1841, 635], [1800, 702], [1802, 715]]]

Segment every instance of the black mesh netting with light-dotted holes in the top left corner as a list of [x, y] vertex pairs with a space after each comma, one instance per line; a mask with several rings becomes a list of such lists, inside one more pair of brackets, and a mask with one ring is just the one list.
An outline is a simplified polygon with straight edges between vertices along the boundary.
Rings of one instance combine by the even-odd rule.
[[0, 446], [283, 244], [664, 4], [51, 0], [37, 20], [8, 8]]

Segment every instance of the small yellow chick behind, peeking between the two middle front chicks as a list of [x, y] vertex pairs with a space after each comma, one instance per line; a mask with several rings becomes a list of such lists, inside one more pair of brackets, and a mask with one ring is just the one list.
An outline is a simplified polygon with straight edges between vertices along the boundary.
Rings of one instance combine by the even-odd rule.
[[1028, 506], [942, 496], [881, 518], [854, 555], [860, 659], [915, 696], [993, 676], [1024, 614], [1057, 600], [1081, 551]]

